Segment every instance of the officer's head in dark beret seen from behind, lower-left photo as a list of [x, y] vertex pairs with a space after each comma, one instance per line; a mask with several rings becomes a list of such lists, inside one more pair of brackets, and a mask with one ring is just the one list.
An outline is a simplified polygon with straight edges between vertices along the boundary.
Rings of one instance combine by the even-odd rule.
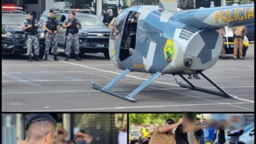
[[52, 144], [56, 120], [47, 113], [36, 113], [26, 119], [26, 140], [18, 144]]

